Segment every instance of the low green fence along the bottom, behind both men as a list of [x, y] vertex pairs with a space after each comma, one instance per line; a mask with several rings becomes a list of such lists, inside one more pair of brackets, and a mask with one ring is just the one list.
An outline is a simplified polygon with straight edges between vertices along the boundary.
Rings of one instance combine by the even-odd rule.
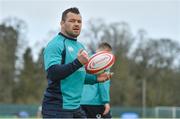
[[[0, 104], [0, 117], [16, 117], [19, 112], [27, 112], [29, 117], [36, 117], [39, 105], [12, 105]], [[112, 116], [120, 118], [125, 113], [135, 113], [143, 116], [139, 107], [111, 107]], [[146, 108], [145, 118], [180, 118], [179, 107], [154, 107]]]

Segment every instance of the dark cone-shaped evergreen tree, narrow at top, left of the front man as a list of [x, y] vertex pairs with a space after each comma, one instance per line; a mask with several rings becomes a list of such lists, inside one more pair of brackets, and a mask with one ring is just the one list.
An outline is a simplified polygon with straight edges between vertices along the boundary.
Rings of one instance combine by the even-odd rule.
[[24, 68], [21, 70], [18, 81], [13, 90], [14, 103], [35, 103], [33, 98], [36, 94], [35, 80], [35, 65], [32, 60], [31, 49], [28, 48], [23, 56]]

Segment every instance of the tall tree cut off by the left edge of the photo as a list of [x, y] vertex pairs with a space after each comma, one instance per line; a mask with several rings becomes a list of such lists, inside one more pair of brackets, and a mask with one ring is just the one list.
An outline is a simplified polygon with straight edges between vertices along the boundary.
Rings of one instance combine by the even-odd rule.
[[18, 36], [13, 27], [0, 25], [0, 102], [4, 103], [12, 101]]

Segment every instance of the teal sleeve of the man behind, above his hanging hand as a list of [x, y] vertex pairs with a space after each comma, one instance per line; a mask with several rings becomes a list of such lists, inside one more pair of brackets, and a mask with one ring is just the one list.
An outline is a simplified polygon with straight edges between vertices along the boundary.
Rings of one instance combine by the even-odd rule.
[[106, 104], [110, 101], [110, 80], [99, 83], [98, 87], [101, 101]]

